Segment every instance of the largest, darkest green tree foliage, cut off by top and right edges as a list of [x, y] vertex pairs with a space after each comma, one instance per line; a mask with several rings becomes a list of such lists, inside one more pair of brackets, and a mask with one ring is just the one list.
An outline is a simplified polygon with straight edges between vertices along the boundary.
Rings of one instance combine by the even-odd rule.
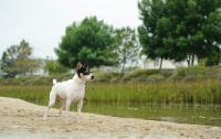
[[[157, 1], [164, 4], [158, 4]], [[176, 62], [187, 60], [189, 65], [193, 65], [196, 56], [201, 60], [220, 53], [220, 7], [221, 1], [218, 0], [156, 0], [152, 2], [143, 0], [138, 3], [138, 8], [144, 25], [140, 25], [138, 31], [140, 35], [146, 33], [149, 38], [157, 38], [157, 42], [162, 42], [160, 45], [166, 47], [166, 53], [169, 52], [169, 58]], [[155, 12], [155, 9], [161, 9], [164, 14]], [[156, 14], [158, 18], [152, 21], [151, 18]], [[160, 40], [158, 40], [159, 36], [161, 36]], [[140, 38], [144, 47], [148, 47], [147, 52], [155, 53], [154, 57], [160, 56], [152, 40], [146, 40], [148, 38]], [[164, 50], [158, 51], [165, 54]]]

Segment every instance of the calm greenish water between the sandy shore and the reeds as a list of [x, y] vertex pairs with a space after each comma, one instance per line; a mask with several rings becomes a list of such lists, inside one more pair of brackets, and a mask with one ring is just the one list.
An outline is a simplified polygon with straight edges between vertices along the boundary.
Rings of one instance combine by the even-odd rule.
[[[42, 105], [42, 101], [31, 101]], [[48, 103], [44, 106], [48, 105]], [[61, 107], [60, 101], [54, 105]], [[76, 111], [76, 104], [70, 110]], [[83, 113], [92, 113], [123, 118], [171, 121], [178, 124], [206, 125], [221, 127], [220, 105], [131, 105], [110, 103], [84, 103]]]

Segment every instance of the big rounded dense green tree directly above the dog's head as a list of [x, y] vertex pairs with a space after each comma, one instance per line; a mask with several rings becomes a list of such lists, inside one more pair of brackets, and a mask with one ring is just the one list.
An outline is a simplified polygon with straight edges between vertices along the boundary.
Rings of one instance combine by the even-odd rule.
[[76, 66], [78, 60], [88, 62], [91, 66], [113, 64], [106, 53], [114, 43], [113, 35], [114, 29], [96, 17], [74, 22], [66, 28], [59, 49], [55, 49], [59, 62], [71, 68]]

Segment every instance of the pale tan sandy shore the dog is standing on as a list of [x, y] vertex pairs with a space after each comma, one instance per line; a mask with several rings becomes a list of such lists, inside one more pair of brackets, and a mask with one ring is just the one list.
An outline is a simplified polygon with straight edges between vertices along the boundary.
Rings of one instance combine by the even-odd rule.
[[[84, 107], [84, 106], [83, 106]], [[221, 127], [173, 124], [167, 121], [117, 118], [70, 113], [70, 122], [60, 118], [57, 109], [21, 99], [0, 97], [0, 139], [221, 139]]]

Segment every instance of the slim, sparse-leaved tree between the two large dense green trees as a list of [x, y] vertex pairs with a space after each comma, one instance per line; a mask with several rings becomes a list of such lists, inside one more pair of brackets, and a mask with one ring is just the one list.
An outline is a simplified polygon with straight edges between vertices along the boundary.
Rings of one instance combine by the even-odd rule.
[[116, 61], [122, 64], [122, 74], [124, 73], [126, 64], [134, 64], [138, 61], [139, 44], [135, 30], [122, 28], [117, 31], [115, 40]]

